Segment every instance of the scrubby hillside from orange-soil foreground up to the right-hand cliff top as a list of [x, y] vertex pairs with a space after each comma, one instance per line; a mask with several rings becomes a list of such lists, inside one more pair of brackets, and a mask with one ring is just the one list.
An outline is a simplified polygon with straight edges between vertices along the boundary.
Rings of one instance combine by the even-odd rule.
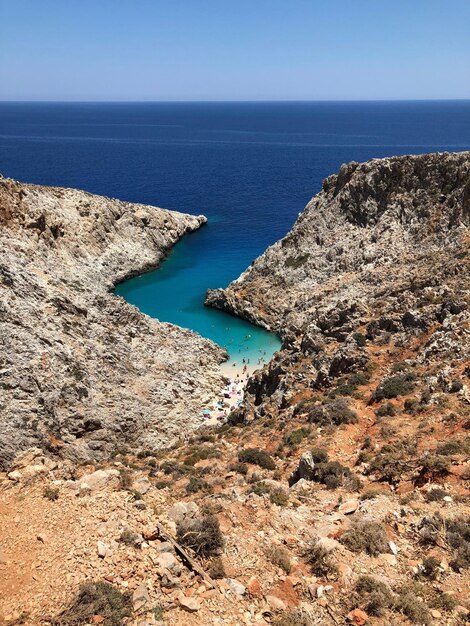
[[209, 294], [284, 339], [227, 424], [0, 473], [0, 623], [470, 626], [469, 177], [344, 166]]

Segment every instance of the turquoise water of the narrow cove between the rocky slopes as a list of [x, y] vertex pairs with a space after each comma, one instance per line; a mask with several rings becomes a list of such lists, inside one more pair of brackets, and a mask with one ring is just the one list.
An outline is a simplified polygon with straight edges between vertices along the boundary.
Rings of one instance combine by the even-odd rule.
[[230, 254], [215, 262], [210, 254], [215, 225], [206, 224], [185, 235], [161, 265], [119, 285], [115, 293], [140, 311], [162, 322], [189, 328], [226, 348], [228, 364], [249, 359], [260, 365], [281, 347], [273, 333], [224, 311], [204, 306], [208, 288], [226, 286], [233, 271]]

